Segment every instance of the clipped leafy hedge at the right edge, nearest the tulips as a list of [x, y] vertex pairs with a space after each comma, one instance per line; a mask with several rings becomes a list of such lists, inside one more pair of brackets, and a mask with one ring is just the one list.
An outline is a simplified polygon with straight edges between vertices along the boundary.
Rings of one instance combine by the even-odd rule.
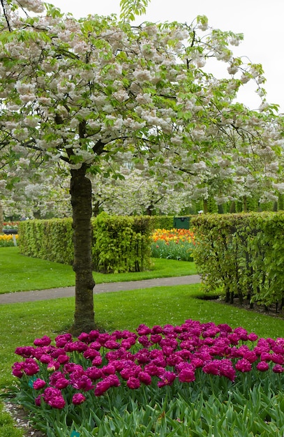
[[205, 290], [226, 302], [284, 306], [284, 213], [195, 216], [194, 260]]

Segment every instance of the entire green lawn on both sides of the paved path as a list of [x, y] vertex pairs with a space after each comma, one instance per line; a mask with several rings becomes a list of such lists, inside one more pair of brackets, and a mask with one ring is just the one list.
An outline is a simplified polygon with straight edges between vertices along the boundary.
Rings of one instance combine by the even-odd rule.
[[[74, 285], [72, 267], [20, 255], [17, 248], [0, 249], [1, 292], [52, 288]], [[194, 274], [192, 262], [154, 259], [150, 272], [103, 275], [94, 273], [97, 283], [150, 279], [154, 277]], [[130, 329], [145, 323], [153, 325], [179, 325], [192, 318], [202, 323], [227, 323], [242, 326], [248, 332], [264, 337], [283, 337], [284, 320], [253, 311], [246, 311], [215, 300], [202, 300], [200, 285], [156, 287], [140, 290], [107, 292], [95, 295], [96, 323], [101, 329]], [[25, 304], [0, 305], [0, 388], [3, 393], [12, 387], [13, 362], [21, 360], [15, 355], [17, 346], [32, 345], [43, 335], [54, 339], [66, 332], [73, 323], [74, 297], [52, 299]], [[8, 390], [11, 390], [10, 388]], [[20, 437], [22, 431], [13, 427], [10, 417], [1, 411], [0, 437]]]

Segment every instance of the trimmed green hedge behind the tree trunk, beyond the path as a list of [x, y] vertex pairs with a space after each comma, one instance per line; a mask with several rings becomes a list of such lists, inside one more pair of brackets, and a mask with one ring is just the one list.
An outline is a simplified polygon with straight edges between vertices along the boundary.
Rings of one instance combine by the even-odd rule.
[[[20, 252], [63, 264], [73, 264], [72, 218], [22, 221]], [[142, 271], [150, 264], [149, 216], [128, 217], [99, 214], [91, 220], [92, 256], [98, 272]]]

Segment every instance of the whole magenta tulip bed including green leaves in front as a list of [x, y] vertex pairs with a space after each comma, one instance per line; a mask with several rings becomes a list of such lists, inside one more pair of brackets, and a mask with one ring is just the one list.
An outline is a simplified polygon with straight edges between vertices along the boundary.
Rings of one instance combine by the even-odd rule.
[[48, 437], [283, 436], [284, 338], [186, 320], [15, 353], [17, 403]]

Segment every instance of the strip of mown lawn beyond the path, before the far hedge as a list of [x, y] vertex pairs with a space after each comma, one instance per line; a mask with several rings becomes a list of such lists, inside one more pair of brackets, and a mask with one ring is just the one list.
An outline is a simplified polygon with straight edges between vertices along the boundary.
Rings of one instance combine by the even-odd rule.
[[[94, 272], [96, 283], [139, 281], [140, 279], [166, 278], [195, 274], [193, 262], [153, 258], [147, 272], [102, 274]], [[0, 293], [45, 290], [75, 285], [75, 274], [70, 265], [28, 258], [17, 247], [0, 248]]]

